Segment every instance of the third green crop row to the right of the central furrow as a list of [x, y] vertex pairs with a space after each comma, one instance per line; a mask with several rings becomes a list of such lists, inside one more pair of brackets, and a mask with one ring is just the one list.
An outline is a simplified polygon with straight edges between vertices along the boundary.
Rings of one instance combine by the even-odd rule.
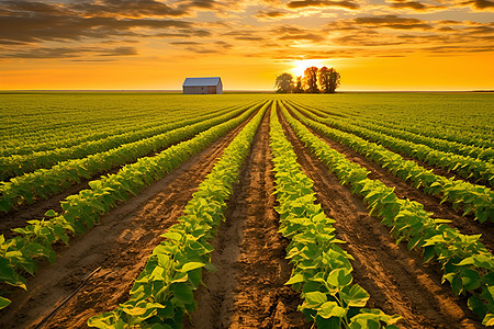
[[463, 215], [474, 213], [475, 219], [481, 223], [494, 222], [494, 192], [491, 189], [437, 175], [415, 161], [405, 160], [402, 156], [388, 150], [382, 145], [328, 127], [319, 123], [321, 118], [316, 115], [304, 111], [303, 113], [306, 115], [304, 116], [291, 105], [288, 104], [288, 106], [296, 118], [305, 125], [351, 147], [355, 151], [379, 163], [402, 180], [412, 181], [415, 188], [422, 186], [425, 193], [440, 196], [442, 202], [452, 203], [454, 208], [462, 207]]

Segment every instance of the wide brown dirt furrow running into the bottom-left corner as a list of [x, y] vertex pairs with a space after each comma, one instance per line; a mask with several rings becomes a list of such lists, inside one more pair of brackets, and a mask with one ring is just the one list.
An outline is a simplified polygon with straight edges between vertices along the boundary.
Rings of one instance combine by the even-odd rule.
[[12, 305], [0, 313], [0, 327], [27, 328], [40, 324], [99, 266], [101, 270], [42, 328], [86, 328], [89, 317], [125, 302], [133, 281], [161, 240], [159, 236], [182, 215], [192, 193], [244, 125], [103, 216], [93, 229], [72, 239], [54, 264], [42, 265], [29, 280], [27, 292], [18, 290], [11, 296]]

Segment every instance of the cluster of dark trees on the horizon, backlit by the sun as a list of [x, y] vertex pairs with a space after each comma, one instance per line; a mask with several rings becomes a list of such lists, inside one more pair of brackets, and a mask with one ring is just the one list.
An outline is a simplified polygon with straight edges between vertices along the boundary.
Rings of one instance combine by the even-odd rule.
[[303, 77], [296, 77], [296, 81], [290, 73], [278, 76], [274, 88], [280, 93], [335, 93], [339, 81], [339, 73], [334, 68], [312, 66], [305, 69]]

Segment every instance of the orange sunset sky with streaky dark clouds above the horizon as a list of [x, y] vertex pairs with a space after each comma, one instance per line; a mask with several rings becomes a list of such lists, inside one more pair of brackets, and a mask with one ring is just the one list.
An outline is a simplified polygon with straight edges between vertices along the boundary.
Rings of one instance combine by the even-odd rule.
[[494, 89], [491, 0], [0, 0], [0, 90], [273, 90], [334, 67], [339, 91]]

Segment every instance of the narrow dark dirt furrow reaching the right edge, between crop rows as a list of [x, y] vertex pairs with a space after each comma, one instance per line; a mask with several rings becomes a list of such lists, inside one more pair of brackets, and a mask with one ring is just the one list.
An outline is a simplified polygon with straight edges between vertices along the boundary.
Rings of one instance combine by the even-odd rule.
[[480, 223], [474, 220], [471, 215], [468, 217], [461, 216], [463, 213], [461, 208], [453, 209], [451, 204], [441, 204], [441, 200], [439, 197], [425, 194], [423, 191], [415, 189], [409, 181], [404, 182], [402, 179], [382, 168], [379, 163], [369, 160], [364, 156], [352, 150], [350, 147], [325, 137], [312, 129], [311, 132], [322, 138], [333, 149], [343, 154], [347, 159], [371, 171], [369, 174], [370, 179], [378, 179], [390, 188], [394, 186], [394, 193], [400, 198], [409, 198], [422, 203], [427, 212], [434, 213], [434, 218], [450, 219], [451, 223], [449, 225], [458, 228], [465, 235], [481, 234], [482, 237], [480, 240], [491, 252], [494, 250], [494, 230], [492, 229], [492, 223]]

